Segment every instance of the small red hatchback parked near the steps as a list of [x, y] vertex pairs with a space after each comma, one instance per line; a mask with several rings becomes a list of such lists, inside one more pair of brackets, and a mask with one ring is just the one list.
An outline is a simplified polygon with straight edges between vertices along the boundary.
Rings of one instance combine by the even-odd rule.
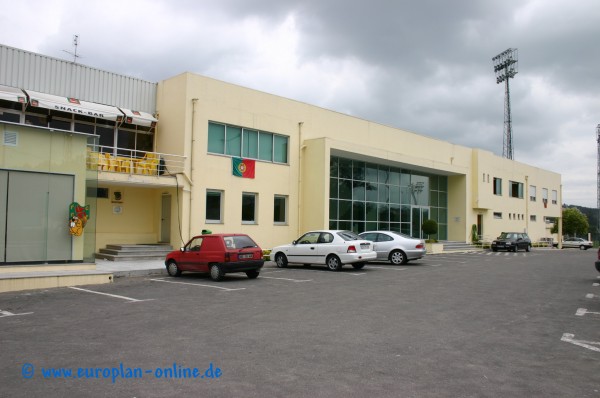
[[244, 234], [195, 236], [165, 259], [171, 276], [179, 276], [183, 271], [209, 272], [215, 281], [233, 272], [245, 272], [248, 278], [255, 279], [264, 263], [261, 248]]

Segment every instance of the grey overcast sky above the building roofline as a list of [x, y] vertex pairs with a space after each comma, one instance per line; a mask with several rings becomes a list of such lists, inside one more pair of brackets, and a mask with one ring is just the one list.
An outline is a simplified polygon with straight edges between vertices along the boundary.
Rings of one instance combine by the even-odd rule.
[[598, 0], [0, 0], [0, 43], [151, 82], [194, 72], [514, 159], [597, 203]]

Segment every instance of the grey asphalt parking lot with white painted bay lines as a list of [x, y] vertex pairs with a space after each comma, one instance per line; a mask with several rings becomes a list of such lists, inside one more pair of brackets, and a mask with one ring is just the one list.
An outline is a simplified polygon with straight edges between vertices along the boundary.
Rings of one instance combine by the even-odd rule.
[[3, 396], [599, 397], [595, 252], [0, 294]]

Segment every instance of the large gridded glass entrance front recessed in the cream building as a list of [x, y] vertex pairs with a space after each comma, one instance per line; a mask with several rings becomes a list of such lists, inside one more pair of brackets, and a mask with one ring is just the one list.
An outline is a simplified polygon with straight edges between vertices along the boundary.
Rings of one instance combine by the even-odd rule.
[[446, 176], [332, 156], [329, 228], [422, 237], [422, 222], [432, 219], [438, 223], [437, 239], [445, 240], [447, 192]]

